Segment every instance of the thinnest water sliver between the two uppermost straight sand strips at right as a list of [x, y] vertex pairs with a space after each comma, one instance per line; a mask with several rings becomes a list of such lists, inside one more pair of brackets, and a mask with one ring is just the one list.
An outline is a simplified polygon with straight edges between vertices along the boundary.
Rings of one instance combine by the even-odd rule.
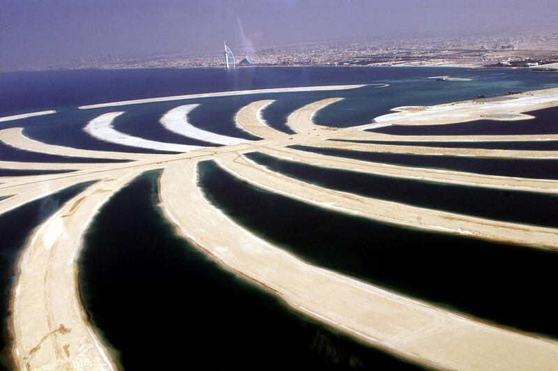
[[[331, 139], [333, 140], [333, 139]], [[394, 141], [394, 140], [360, 140], [360, 139], [337, 139], [335, 142], [386, 144], [393, 146], [425, 146], [437, 148], [480, 148], [480, 149], [515, 149], [523, 151], [558, 151], [557, 140], [527, 140], [513, 142], [478, 141], [478, 142], [418, 142], [418, 141]]]

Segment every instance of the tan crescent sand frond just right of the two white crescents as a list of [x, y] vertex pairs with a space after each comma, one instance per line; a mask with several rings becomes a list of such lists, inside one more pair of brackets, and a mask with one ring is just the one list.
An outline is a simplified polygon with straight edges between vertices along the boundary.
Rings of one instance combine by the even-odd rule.
[[236, 126], [264, 139], [285, 138], [287, 133], [271, 128], [262, 116], [262, 110], [273, 102], [275, 100], [257, 100], [242, 107], [236, 114]]

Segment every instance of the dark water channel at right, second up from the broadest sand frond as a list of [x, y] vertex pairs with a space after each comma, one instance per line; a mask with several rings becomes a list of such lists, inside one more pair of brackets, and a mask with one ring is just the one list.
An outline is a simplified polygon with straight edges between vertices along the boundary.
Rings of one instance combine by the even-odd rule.
[[558, 227], [558, 195], [414, 181], [377, 174], [328, 169], [286, 161], [263, 153], [246, 157], [273, 172], [324, 188], [385, 199], [426, 209], [481, 218]]

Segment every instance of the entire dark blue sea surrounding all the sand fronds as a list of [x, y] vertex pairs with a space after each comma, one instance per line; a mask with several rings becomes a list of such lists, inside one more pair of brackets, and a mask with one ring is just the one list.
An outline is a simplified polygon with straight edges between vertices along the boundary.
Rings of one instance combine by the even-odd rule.
[[[470, 81], [439, 82], [428, 78], [446, 75]], [[263, 93], [77, 109], [80, 105], [160, 96], [335, 84], [365, 86], [343, 91]], [[90, 137], [83, 128], [100, 114], [123, 111], [125, 113], [114, 121], [114, 128], [121, 132], [160, 142], [205, 145], [164, 130], [159, 123], [160, 116], [173, 107], [197, 103], [199, 107], [189, 116], [194, 126], [223, 135], [255, 139], [234, 125], [236, 112], [255, 100], [276, 100], [263, 110], [262, 116], [273, 128], [289, 132], [286, 122], [291, 112], [324, 98], [345, 99], [320, 110], [314, 118], [316, 123], [349, 127], [370, 123], [376, 116], [403, 105], [451, 103], [475, 99], [479, 95], [500, 96], [507, 91], [555, 86], [558, 86], [558, 74], [530, 73], [524, 69], [442, 67], [250, 67], [232, 71], [154, 68], [0, 73], [0, 117], [56, 109], [56, 114], [52, 115], [0, 122], [0, 129], [24, 128], [25, 135], [31, 139], [82, 149], [155, 152], [101, 142]], [[558, 134], [555, 109], [541, 110], [534, 115], [536, 120], [531, 121], [534, 125], [518, 121], [513, 125], [502, 124], [490, 132], [483, 131], [482, 122], [470, 126], [455, 124], [446, 128], [378, 131], [394, 135]], [[555, 150], [557, 146], [548, 143], [541, 148], [531, 148], [532, 144], [522, 142], [515, 145], [543, 151]], [[492, 146], [513, 148], [513, 144], [505, 142]], [[297, 148], [318, 151], [303, 146]], [[557, 179], [558, 174], [555, 160], [322, 151], [393, 165], [493, 175]], [[326, 188], [422, 207], [551, 227], [555, 227], [558, 217], [555, 195], [497, 192], [317, 170], [257, 153], [252, 159], [275, 171]], [[91, 161], [20, 151], [1, 143], [0, 160]], [[28, 174], [0, 169], [0, 176]], [[103, 206], [85, 236], [79, 261], [82, 303], [121, 368], [372, 370], [418, 367], [303, 317], [276, 296], [226, 271], [177, 236], [158, 206], [158, 176], [160, 172], [157, 171], [140, 176]], [[550, 338], [558, 337], [552, 295], [549, 295], [554, 281], [552, 267], [558, 264], [558, 260], [554, 262], [558, 259], [555, 252], [419, 232], [324, 211], [238, 181], [211, 161], [199, 165], [199, 176], [200, 187], [216, 207], [251, 232], [312, 264], [471, 317]], [[0, 241], [3, 241], [0, 244], [3, 272], [0, 277], [0, 313], [3, 314], [0, 349], [3, 350], [0, 354], [3, 367], [13, 367], [9, 357], [8, 324], [17, 258], [33, 228], [54, 212], [56, 206], [75, 195], [80, 186], [0, 215]], [[386, 189], [393, 192], [386, 192]], [[467, 204], [467, 199], [472, 198], [481, 199], [483, 204]], [[495, 206], [490, 207], [491, 204]], [[531, 205], [537, 205], [536, 212], [529, 210]]]

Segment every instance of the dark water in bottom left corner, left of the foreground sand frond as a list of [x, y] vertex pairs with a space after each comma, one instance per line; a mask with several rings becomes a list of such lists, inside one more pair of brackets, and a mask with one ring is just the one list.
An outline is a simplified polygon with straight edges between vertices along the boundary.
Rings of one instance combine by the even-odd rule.
[[74, 197], [91, 183], [75, 185], [60, 192], [0, 215], [0, 318], [2, 336], [0, 337], [0, 369], [13, 368], [10, 360], [8, 322], [10, 298], [15, 279], [15, 264], [24, 247], [25, 241], [33, 231], [52, 215], [59, 206]]

